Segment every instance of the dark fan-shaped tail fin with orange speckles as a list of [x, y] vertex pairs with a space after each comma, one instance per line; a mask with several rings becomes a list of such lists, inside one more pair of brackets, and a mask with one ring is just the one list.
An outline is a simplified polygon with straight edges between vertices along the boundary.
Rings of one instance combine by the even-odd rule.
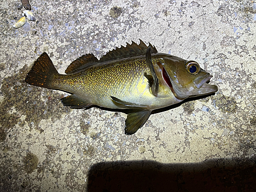
[[42, 53], [34, 62], [34, 65], [28, 73], [25, 81], [33, 86], [42, 88], [52, 88], [52, 79], [54, 75], [58, 75], [52, 60], [47, 53]]

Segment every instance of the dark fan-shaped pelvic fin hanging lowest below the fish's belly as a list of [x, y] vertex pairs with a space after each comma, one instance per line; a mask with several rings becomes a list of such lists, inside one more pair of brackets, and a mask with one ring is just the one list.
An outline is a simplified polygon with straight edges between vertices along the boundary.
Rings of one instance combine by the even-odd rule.
[[148, 117], [150, 117], [151, 111], [139, 111], [134, 113], [129, 113], [125, 120], [125, 134], [132, 135], [142, 127], [147, 121]]

